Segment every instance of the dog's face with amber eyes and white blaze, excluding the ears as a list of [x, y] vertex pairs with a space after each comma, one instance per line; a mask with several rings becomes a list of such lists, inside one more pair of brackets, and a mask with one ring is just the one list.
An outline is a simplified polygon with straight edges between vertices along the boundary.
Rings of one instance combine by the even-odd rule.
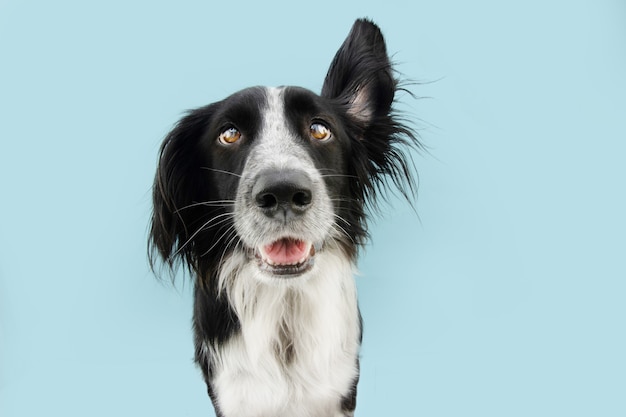
[[217, 186], [196, 198], [227, 205], [222, 221], [233, 228], [224, 233], [260, 279], [306, 274], [316, 253], [350, 239], [338, 223], [350, 137], [335, 107], [294, 87], [251, 88], [213, 105], [198, 158]]

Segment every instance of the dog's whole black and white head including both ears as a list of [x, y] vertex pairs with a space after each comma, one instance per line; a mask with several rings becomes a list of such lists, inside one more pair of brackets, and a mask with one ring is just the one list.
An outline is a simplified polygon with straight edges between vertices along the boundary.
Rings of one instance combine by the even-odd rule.
[[387, 180], [413, 187], [397, 89], [380, 30], [357, 20], [321, 95], [254, 87], [189, 112], [161, 147], [154, 254], [201, 280], [233, 252], [261, 279], [306, 275], [326, 250], [353, 259]]

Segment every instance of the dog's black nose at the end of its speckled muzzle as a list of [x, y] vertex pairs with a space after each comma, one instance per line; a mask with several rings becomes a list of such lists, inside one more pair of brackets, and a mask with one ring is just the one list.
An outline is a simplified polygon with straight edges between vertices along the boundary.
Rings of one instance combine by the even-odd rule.
[[303, 171], [262, 171], [252, 187], [252, 196], [266, 216], [290, 220], [304, 213], [311, 205], [311, 186], [311, 179]]

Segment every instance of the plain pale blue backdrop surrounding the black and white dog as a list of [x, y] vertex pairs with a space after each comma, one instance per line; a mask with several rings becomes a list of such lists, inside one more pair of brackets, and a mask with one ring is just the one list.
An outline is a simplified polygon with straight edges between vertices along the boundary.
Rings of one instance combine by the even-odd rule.
[[626, 3], [483, 0], [1, 1], [0, 415], [212, 415], [146, 261], [159, 144], [319, 91], [362, 16], [429, 152], [359, 265], [357, 415], [626, 415]]

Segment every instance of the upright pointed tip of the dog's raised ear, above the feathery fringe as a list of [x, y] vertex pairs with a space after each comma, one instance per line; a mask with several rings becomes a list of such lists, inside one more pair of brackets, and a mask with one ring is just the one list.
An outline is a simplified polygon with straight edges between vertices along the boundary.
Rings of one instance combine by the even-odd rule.
[[359, 19], [330, 65], [322, 96], [337, 99], [366, 126], [391, 110], [396, 90], [385, 40], [378, 26]]

